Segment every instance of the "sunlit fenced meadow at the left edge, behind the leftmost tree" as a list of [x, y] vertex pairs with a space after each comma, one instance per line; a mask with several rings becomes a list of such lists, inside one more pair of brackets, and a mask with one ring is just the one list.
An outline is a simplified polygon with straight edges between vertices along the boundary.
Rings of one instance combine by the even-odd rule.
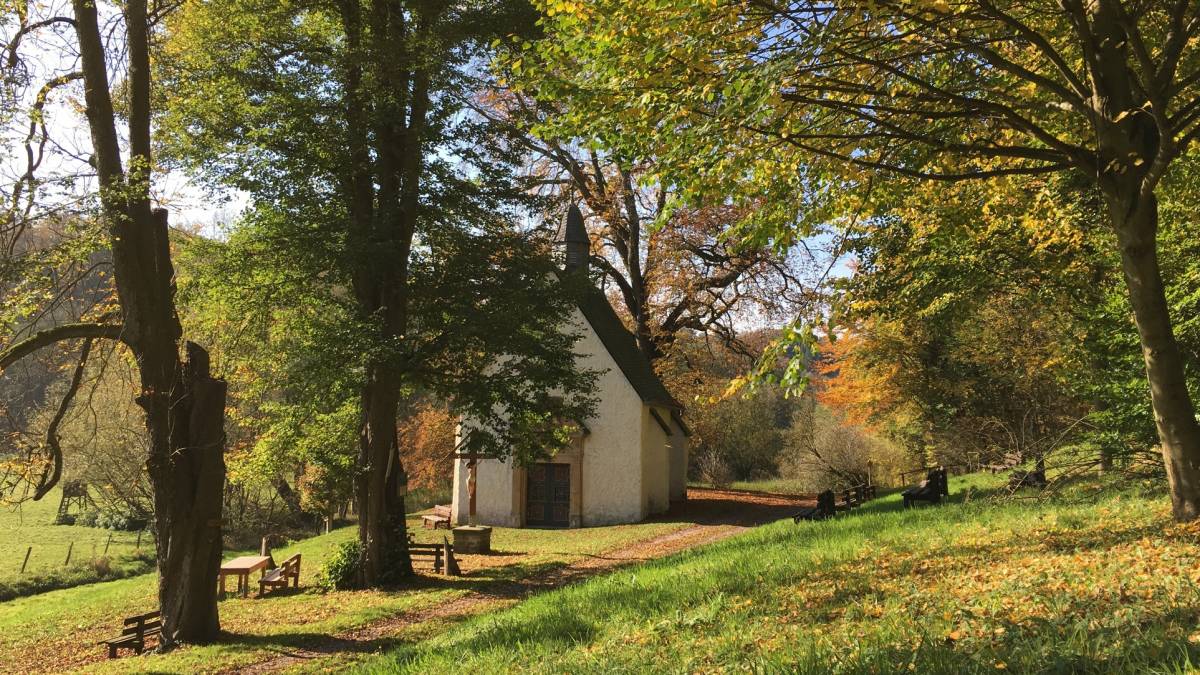
[[[55, 489], [37, 502], [0, 507], [0, 583], [20, 575], [20, 563], [29, 546], [34, 549], [25, 574], [41, 574], [61, 568], [67, 558], [67, 548], [71, 548], [72, 562], [98, 557], [103, 555], [109, 537], [112, 537], [109, 557], [134, 552], [137, 532], [54, 525], [60, 494], [60, 490]], [[143, 537], [142, 546], [154, 548], [149, 536]]]

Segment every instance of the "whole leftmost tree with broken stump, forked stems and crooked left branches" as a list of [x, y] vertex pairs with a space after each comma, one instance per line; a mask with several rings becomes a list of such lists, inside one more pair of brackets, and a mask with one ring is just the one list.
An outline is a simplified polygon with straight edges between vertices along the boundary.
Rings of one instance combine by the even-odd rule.
[[[163, 646], [208, 641], [220, 631], [214, 580], [221, 562], [226, 386], [210, 375], [208, 352], [184, 339], [167, 211], [154, 208], [151, 199], [150, 48], [164, 7], [149, 7], [146, 0], [72, 0], [61, 7], [64, 13], [56, 10], [35, 2], [6, 5], [6, 117], [18, 119], [20, 110], [31, 110], [22, 119], [28, 130], [25, 171], [6, 195], [6, 253], [14, 259], [36, 251], [38, 246], [22, 239], [44, 234], [47, 222], [64, 213], [95, 207], [103, 226], [100, 245], [110, 252], [115, 307], [52, 325], [25, 312], [20, 328], [6, 336], [0, 370], [53, 345], [80, 342], [65, 410], [92, 341], [116, 340], [133, 353], [140, 378], [137, 402], [145, 411], [150, 443], [146, 468], [154, 491]], [[110, 64], [116, 64], [116, 73]], [[48, 121], [55, 109], [48, 106], [50, 97], [78, 83], [91, 138], [90, 168], [72, 168], [76, 157], [54, 143], [49, 131], [60, 129]], [[58, 121], [70, 129], [70, 121]], [[30, 298], [53, 304], [62, 293]], [[38, 497], [61, 476], [55, 446], [48, 444], [52, 456], [41, 458], [50, 470], [37, 478]]]

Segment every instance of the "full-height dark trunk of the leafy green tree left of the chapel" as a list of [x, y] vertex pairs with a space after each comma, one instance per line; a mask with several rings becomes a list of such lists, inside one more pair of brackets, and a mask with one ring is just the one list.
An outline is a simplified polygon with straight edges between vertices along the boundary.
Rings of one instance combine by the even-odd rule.
[[[431, 35], [442, 11], [439, 2], [406, 10], [396, 0], [372, 4], [366, 16], [354, 0], [341, 6], [352, 169], [344, 192], [353, 220], [350, 241], [362, 252], [354, 271], [355, 300], [364, 321], [378, 322], [380, 335], [396, 342], [408, 330], [408, 258], [420, 210], [434, 67], [422, 62], [428, 56], [415, 46]], [[396, 356], [367, 364], [355, 466], [364, 586], [413, 573], [404, 521], [407, 480], [396, 437], [403, 384], [404, 364]]]

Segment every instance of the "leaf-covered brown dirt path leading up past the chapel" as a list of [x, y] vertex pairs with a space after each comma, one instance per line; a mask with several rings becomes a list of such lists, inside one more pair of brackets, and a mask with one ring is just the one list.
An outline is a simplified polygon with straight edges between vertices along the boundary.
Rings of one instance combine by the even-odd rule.
[[396, 641], [412, 626], [444, 619], [464, 619], [503, 601], [521, 601], [534, 593], [558, 589], [613, 568], [665, 557], [709, 544], [762, 525], [790, 513], [811, 500], [786, 495], [754, 495], [722, 490], [689, 490], [688, 502], [667, 513], [664, 520], [688, 520], [690, 527], [637, 542], [613, 551], [586, 556], [557, 571], [521, 580], [496, 580], [485, 589], [433, 608], [406, 611], [361, 628], [329, 635], [320, 641], [254, 664], [226, 673], [278, 673], [334, 653], [371, 653]]

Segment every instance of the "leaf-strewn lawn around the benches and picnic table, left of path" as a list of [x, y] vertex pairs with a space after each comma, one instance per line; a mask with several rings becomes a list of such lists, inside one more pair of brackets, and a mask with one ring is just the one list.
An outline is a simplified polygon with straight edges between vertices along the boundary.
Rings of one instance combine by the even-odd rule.
[[[204, 647], [97, 662], [103, 656], [97, 640], [116, 634], [121, 617], [155, 607], [154, 574], [0, 603], [0, 673], [79, 668], [89, 673], [196, 673], [236, 668], [380, 619], [434, 608], [487, 584], [540, 574], [582, 556], [686, 526], [653, 522], [570, 531], [496, 528], [492, 545], [500, 565], [494, 568], [458, 579], [425, 577], [409, 589], [322, 593], [314, 589], [317, 569], [335, 544], [355, 537], [354, 527], [344, 527], [272, 551], [276, 560], [294, 552], [302, 555], [301, 591], [222, 601], [221, 623], [228, 635]], [[419, 542], [440, 542], [448, 534], [445, 530], [421, 530], [419, 519], [410, 519], [409, 527]], [[229, 551], [224, 557], [235, 555]]]

